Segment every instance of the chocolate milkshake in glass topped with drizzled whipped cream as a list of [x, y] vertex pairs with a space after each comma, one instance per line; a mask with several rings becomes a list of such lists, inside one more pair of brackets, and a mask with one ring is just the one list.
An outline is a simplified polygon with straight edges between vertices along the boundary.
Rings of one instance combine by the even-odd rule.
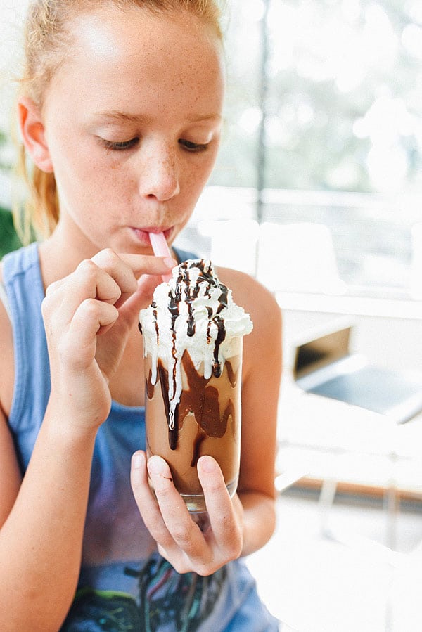
[[155, 288], [139, 316], [146, 378], [146, 444], [170, 465], [191, 512], [204, 512], [196, 463], [217, 460], [229, 494], [238, 483], [243, 335], [252, 322], [212, 264], [190, 259]]

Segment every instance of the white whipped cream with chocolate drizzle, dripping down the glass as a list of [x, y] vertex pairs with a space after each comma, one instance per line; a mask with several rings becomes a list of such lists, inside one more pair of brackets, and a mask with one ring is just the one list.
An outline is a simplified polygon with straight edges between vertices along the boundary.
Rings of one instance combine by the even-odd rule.
[[139, 324], [143, 354], [152, 359], [151, 382], [157, 382], [158, 359], [169, 373], [170, 429], [180, 401], [184, 352], [204, 378], [219, 377], [226, 359], [238, 354], [238, 338], [253, 326], [205, 259], [188, 259], [174, 268], [169, 282], [155, 288], [151, 305], [141, 309]]

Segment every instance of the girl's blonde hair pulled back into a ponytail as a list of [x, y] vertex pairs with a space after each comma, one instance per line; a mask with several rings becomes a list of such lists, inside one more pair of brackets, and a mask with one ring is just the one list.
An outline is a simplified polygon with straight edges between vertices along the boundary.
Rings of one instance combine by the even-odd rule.
[[[224, 0], [33, 0], [25, 27], [24, 70], [20, 95], [28, 96], [42, 110], [44, 95], [60, 64], [63, 63], [71, 34], [70, 20], [78, 13], [95, 11], [98, 6], [125, 9], [133, 6], [152, 13], [187, 11], [198, 16], [222, 41], [222, 5]], [[41, 171], [29, 163], [25, 147], [20, 146], [18, 173], [27, 183], [28, 197], [23, 209], [15, 209], [15, 224], [23, 243], [35, 233], [46, 237], [59, 219], [58, 193], [53, 173]]]

